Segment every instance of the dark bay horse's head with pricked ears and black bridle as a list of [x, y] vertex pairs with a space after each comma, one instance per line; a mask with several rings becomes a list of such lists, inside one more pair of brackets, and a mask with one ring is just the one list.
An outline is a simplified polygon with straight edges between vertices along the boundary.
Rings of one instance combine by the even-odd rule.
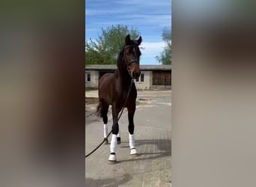
[[127, 71], [132, 79], [136, 79], [141, 75], [141, 70], [139, 69], [139, 58], [141, 51], [138, 46], [141, 44], [141, 37], [138, 40], [131, 40], [129, 34], [125, 38], [124, 46], [124, 61], [127, 65]]

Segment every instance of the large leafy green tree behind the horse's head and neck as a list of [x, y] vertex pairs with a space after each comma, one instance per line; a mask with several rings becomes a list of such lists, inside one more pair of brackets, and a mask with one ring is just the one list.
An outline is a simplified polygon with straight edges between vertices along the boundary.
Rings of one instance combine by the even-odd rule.
[[129, 29], [127, 25], [102, 28], [96, 41], [85, 41], [85, 64], [116, 64], [127, 34], [136, 39], [140, 32], [137, 29]]

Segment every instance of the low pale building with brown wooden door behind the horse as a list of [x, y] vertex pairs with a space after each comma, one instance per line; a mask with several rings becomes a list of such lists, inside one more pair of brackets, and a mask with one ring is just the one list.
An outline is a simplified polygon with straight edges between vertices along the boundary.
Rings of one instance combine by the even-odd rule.
[[[116, 65], [85, 65], [85, 88], [97, 88], [104, 73], [114, 73]], [[171, 89], [171, 65], [140, 65], [141, 76], [135, 80], [138, 90]]]

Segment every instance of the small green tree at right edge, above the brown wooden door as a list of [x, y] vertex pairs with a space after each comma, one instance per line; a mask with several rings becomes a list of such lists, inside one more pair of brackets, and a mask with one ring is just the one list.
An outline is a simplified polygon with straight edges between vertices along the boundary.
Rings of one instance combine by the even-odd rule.
[[171, 30], [164, 29], [162, 31], [162, 40], [165, 42], [165, 48], [160, 56], [156, 56], [156, 61], [161, 64], [171, 64]]

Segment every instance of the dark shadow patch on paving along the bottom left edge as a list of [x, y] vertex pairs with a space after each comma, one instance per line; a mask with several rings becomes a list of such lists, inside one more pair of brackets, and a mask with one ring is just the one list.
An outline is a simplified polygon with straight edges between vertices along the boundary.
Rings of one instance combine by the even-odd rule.
[[108, 186], [121, 186], [124, 183], [127, 183], [130, 180], [130, 174], [124, 174], [122, 177], [110, 178], [110, 179], [97, 179], [86, 178], [85, 177], [85, 186], [88, 187], [108, 187]]

